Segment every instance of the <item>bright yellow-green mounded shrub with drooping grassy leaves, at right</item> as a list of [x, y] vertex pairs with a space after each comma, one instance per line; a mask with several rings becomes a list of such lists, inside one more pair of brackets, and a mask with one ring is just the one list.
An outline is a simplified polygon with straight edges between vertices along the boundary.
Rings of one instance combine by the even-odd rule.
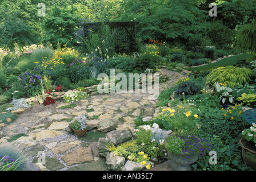
[[205, 81], [207, 84], [214, 85], [215, 82], [219, 82], [229, 88], [234, 88], [237, 85], [250, 83], [252, 76], [253, 72], [248, 68], [218, 67], [205, 77]]

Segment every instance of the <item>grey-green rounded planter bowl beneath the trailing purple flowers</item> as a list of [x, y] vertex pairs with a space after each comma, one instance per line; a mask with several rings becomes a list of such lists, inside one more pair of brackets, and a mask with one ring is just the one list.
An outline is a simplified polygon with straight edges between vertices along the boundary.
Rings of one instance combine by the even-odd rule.
[[168, 162], [170, 167], [174, 171], [191, 171], [190, 164], [197, 161], [197, 155], [191, 155], [189, 158], [185, 154], [174, 154], [173, 152], [168, 152]]

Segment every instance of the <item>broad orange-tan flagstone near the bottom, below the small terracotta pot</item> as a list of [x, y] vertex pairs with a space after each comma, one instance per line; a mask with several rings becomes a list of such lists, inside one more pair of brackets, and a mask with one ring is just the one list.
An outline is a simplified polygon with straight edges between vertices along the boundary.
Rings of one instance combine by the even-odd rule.
[[67, 152], [63, 155], [62, 160], [67, 166], [71, 166], [83, 162], [92, 162], [94, 158], [90, 148], [77, 147], [74, 151]]

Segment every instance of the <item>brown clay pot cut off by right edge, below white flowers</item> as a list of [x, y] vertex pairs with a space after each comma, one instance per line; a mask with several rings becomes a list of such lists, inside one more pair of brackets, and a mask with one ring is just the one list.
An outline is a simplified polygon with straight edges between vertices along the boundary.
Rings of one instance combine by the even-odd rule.
[[242, 146], [242, 159], [246, 166], [256, 170], [256, 147], [255, 143], [247, 141], [242, 137], [239, 141]]

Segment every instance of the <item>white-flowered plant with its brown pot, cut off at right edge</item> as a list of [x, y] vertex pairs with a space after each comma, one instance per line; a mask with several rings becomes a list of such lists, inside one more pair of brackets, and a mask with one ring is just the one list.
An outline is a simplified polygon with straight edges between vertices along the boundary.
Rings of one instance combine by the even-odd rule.
[[245, 164], [256, 170], [256, 124], [243, 130], [239, 143], [242, 146], [242, 159]]

